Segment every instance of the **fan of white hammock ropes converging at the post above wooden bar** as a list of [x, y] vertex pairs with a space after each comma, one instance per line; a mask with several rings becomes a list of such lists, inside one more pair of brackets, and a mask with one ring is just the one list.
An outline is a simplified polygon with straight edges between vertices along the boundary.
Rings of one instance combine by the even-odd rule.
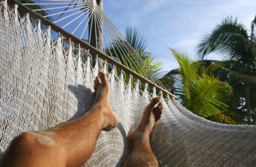
[[[68, 2], [69, 5], [65, 5]], [[65, 6], [61, 6], [62, 4]], [[152, 71], [147, 69], [147, 67], [144, 65], [142, 57], [138, 55], [138, 52], [133, 49], [130, 43], [126, 41], [123, 35], [106, 16], [106, 14], [103, 13], [102, 9], [97, 5], [96, 0], [58, 1], [58, 3], [56, 3], [55, 0], [42, 0], [24, 5], [28, 7], [34, 5], [42, 6], [43, 8], [33, 9], [33, 11], [44, 10], [48, 12], [49, 15], [44, 17], [54, 17], [54, 23], [57, 23], [57, 25], [60, 25], [62, 28], [72, 32], [72, 34], [80, 37], [80, 39], [88, 41], [88, 43], [91, 45], [94, 44], [92, 44], [90, 37], [95, 39], [100, 38], [101, 40], [99, 42], [101, 45], [103, 45], [103, 49], [98, 48], [97, 40], [95, 46], [96, 49], [105, 54], [108, 51], [109, 56], [112, 58], [119, 59], [121, 56], [125, 66], [129, 65], [131, 66], [130, 68], [135, 71], [143, 71], [145, 78], [152, 80], [156, 85], [165, 88], [159, 79], [152, 73]], [[64, 11], [56, 9], [63, 9]], [[101, 24], [102, 26], [100, 26]], [[90, 27], [92, 25], [95, 25], [95, 27]], [[97, 29], [95, 30], [95, 34], [92, 34], [91, 29]], [[102, 35], [97, 34], [97, 32], [101, 31], [103, 32]], [[114, 50], [113, 53], [110, 52], [111, 50]], [[121, 55], [118, 55], [118, 53]], [[119, 59], [119, 62], [120, 61], [121, 60]], [[139, 68], [139, 66], [141, 66], [141, 68]]]

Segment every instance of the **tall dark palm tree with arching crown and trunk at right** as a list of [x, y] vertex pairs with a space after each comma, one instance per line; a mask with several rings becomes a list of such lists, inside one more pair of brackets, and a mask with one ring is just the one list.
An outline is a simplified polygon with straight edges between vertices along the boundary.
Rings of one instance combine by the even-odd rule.
[[[209, 53], [217, 53], [230, 63], [228, 69], [248, 76], [256, 76], [256, 38], [252, 21], [251, 34], [237, 18], [225, 18], [220, 25], [206, 34], [197, 46], [197, 52], [203, 59]], [[247, 122], [251, 124], [251, 87], [245, 82], [243, 97], [246, 101]]]

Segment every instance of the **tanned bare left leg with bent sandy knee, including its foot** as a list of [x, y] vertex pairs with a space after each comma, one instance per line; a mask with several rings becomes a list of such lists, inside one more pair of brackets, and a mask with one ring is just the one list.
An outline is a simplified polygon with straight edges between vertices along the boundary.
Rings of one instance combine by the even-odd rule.
[[79, 166], [94, 152], [103, 128], [118, 125], [109, 103], [107, 76], [99, 73], [94, 81], [96, 98], [91, 110], [73, 121], [43, 132], [17, 136], [6, 151], [0, 166]]

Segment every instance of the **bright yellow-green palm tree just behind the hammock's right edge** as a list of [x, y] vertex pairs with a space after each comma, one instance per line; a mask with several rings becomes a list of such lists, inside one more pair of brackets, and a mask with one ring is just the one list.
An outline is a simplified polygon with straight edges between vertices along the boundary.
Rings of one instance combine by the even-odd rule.
[[226, 82], [214, 77], [214, 71], [223, 64], [211, 62], [206, 66], [201, 62], [194, 62], [185, 53], [170, 50], [180, 68], [170, 71], [167, 75], [176, 78], [175, 93], [181, 104], [204, 118], [211, 118], [226, 111], [232, 89]]

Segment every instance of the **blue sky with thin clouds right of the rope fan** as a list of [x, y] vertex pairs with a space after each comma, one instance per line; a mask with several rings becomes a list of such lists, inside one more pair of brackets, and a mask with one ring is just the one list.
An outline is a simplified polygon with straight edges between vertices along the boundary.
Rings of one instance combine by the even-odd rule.
[[[187, 52], [196, 58], [196, 44], [222, 19], [237, 16], [250, 29], [256, 14], [255, 0], [109, 0], [103, 1], [104, 12], [124, 34], [127, 26], [135, 26], [144, 34], [147, 51], [164, 64], [163, 73], [177, 68], [168, 50]], [[208, 59], [220, 59], [215, 54]]]

